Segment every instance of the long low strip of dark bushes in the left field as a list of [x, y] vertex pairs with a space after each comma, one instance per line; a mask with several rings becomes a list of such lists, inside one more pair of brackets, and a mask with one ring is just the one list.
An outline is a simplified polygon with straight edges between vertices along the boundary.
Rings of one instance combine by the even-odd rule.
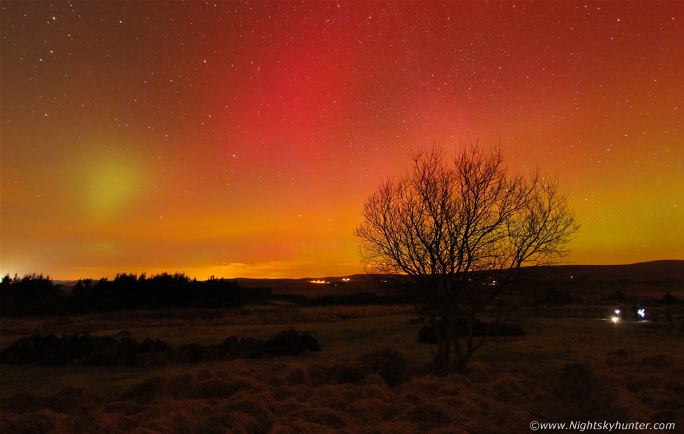
[[216, 345], [188, 344], [174, 348], [159, 339], [142, 343], [121, 336], [72, 334], [58, 338], [35, 335], [20, 338], [0, 352], [0, 364], [37, 364], [47, 366], [163, 366], [207, 361], [258, 359], [320, 351], [308, 333], [290, 327], [267, 341], [231, 336]]

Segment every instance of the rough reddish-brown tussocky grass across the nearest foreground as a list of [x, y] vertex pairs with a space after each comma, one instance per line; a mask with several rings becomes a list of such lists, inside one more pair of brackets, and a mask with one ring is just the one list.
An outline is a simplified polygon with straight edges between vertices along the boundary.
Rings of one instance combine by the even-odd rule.
[[[549, 384], [475, 365], [476, 381], [424, 375], [390, 387], [382, 376], [387, 366], [373, 362], [385, 360], [380, 354], [394, 353], [157, 375], [111, 402], [80, 387], [45, 397], [15, 394], [0, 401], [0, 432], [497, 433], [556, 420], [558, 408], [567, 409], [567, 420], [684, 423], [679, 357], [634, 357], [634, 366], [570, 363]], [[341, 382], [349, 366], [359, 379]]]

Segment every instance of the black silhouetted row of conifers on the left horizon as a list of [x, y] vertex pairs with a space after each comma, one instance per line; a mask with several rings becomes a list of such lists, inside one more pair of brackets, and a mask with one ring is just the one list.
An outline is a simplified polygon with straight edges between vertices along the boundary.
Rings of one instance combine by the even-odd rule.
[[49, 276], [6, 275], [0, 282], [0, 315], [56, 315], [160, 308], [232, 308], [269, 304], [270, 288], [241, 287], [235, 280], [199, 281], [185, 274], [117, 274], [114, 280], [78, 280], [70, 291]]

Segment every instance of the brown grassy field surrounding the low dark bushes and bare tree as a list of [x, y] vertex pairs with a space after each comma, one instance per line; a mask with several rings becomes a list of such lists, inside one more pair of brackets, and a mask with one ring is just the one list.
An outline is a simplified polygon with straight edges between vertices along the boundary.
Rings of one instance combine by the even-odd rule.
[[154, 368], [2, 365], [0, 432], [510, 433], [588, 420], [674, 422], [669, 432], [682, 432], [683, 312], [613, 324], [605, 310], [542, 310], [523, 323], [526, 336], [489, 338], [466, 375], [448, 377], [424, 371], [431, 347], [417, 343], [409, 306], [3, 319], [0, 349], [30, 334], [127, 330], [208, 345], [294, 326], [321, 351]]

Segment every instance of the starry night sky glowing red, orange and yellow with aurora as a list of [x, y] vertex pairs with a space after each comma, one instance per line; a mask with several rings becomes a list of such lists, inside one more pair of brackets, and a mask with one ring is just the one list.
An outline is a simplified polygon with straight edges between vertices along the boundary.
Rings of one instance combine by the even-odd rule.
[[684, 3], [1, 3], [2, 274], [363, 271], [410, 151], [557, 173], [574, 264], [684, 259]]

